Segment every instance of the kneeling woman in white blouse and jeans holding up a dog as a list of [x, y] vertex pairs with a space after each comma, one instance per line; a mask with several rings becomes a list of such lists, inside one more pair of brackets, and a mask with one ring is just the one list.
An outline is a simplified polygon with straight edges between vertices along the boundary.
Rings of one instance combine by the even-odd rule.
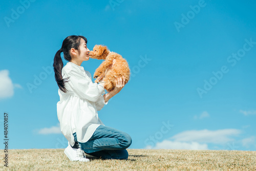
[[[61, 52], [69, 61], [65, 67]], [[117, 78], [116, 88], [104, 94], [104, 84], [93, 83], [90, 72], [81, 67], [83, 61], [89, 60], [89, 52], [86, 37], [73, 35], [63, 40], [54, 57], [60, 97], [57, 115], [60, 130], [69, 142], [64, 152], [71, 161], [90, 161], [84, 152], [102, 159], [127, 159], [126, 148], [132, 143], [130, 135], [105, 126], [97, 112], [121, 91], [124, 78]]]

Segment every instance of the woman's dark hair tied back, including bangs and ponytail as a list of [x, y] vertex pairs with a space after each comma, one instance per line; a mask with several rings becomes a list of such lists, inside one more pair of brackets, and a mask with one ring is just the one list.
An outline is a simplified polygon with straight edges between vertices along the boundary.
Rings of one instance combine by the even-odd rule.
[[83, 36], [68, 36], [65, 38], [62, 42], [61, 49], [57, 51], [57, 53], [54, 56], [54, 62], [53, 62], [53, 68], [54, 68], [54, 73], [55, 73], [55, 80], [58, 84], [58, 87], [61, 91], [67, 92], [67, 89], [65, 88], [65, 82], [68, 81], [68, 78], [63, 79], [61, 75], [61, 70], [63, 68], [63, 61], [61, 59], [60, 53], [63, 52], [64, 59], [70, 61], [72, 59], [70, 55], [70, 50], [71, 48], [74, 48], [78, 50], [78, 53], [80, 54], [80, 43], [81, 43], [81, 38], [86, 41], [87, 44], [87, 38]]

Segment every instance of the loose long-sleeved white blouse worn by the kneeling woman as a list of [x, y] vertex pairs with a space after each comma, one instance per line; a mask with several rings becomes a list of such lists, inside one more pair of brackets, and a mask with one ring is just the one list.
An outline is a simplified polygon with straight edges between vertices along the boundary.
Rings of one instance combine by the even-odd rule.
[[104, 88], [93, 83], [91, 73], [83, 67], [68, 62], [61, 73], [63, 78], [69, 79], [65, 83], [67, 93], [58, 90], [57, 115], [62, 134], [73, 146], [73, 133], [76, 132], [78, 142], [87, 142], [97, 127], [104, 125], [97, 111], [108, 101], [104, 102]]

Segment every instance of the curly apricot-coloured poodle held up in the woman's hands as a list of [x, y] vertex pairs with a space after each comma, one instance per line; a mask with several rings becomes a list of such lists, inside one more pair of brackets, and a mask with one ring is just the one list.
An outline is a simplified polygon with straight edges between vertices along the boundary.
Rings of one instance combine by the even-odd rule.
[[[116, 86], [115, 79], [117, 77], [124, 76], [125, 84], [129, 81], [129, 65], [127, 61], [122, 58], [121, 55], [115, 52], [110, 52], [106, 46], [95, 45], [93, 50], [90, 51], [89, 57], [104, 60], [101, 65], [96, 69], [93, 78], [97, 78], [95, 82], [102, 81], [103, 79], [103, 81], [105, 81], [104, 89], [106, 91], [110, 92], [114, 90]], [[116, 59], [115, 65], [108, 70], [108, 68], [111, 67], [114, 59]]]

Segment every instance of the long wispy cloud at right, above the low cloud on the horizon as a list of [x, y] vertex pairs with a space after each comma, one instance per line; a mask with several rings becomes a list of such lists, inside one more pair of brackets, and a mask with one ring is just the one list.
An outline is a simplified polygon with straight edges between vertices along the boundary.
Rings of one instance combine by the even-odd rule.
[[231, 136], [237, 136], [241, 133], [237, 129], [224, 129], [224, 130], [191, 130], [184, 131], [171, 137], [175, 141], [184, 142], [201, 142], [201, 143], [217, 143], [222, 144], [228, 141], [232, 141]]

